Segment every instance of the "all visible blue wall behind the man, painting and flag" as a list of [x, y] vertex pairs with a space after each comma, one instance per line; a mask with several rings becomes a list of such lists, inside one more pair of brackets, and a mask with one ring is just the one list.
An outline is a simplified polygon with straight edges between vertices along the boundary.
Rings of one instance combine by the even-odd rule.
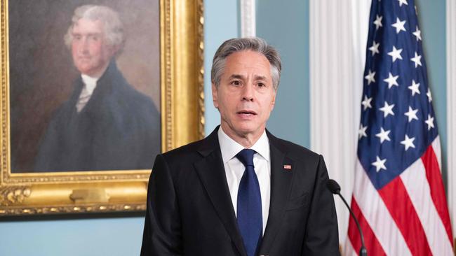
[[[445, 1], [417, 1], [434, 107], [446, 152]], [[239, 36], [237, 1], [206, 0], [206, 134], [219, 124], [210, 95], [210, 62], [222, 41]], [[309, 1], [257, 1], [257, 35], [279, 48], [283, 74], [269, 129], [309, 147]], [[292, 118], [293, 117], [293, 118]], [[139, 255], [142, 217], [0, 222], [0, 255]]]

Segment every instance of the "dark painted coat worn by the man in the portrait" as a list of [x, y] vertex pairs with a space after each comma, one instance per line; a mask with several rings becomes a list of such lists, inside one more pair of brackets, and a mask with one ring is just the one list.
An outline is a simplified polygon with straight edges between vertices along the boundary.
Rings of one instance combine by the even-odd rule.
[[43, 136], [35, 171], [151, 169], [160, 152], [160, 116], [111, 62], [80, 113], [72, 96], [55, 111]]

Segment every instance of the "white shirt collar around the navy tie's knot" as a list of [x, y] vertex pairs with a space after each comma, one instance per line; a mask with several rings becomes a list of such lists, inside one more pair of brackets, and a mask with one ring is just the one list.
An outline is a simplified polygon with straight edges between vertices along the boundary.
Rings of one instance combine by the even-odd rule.
[[[223, 162], [226, 163], [231, 160], [233, 157], [243, 150], [243, 145], [234, 141], [234, 139], [229, 138], [227, 134], [224, 133], [222, 127], [217, 131], [218, 141], [220, 143], [220, 150], [222, 151]], [[269, 162], [269, 139], [267, 138], [266, 131], [263, 131], [263, 134], [258, 138], [258, 141], [253, 144], [250, 149], [255, 150], [259, 155], [261, 155], [266, 161]]]

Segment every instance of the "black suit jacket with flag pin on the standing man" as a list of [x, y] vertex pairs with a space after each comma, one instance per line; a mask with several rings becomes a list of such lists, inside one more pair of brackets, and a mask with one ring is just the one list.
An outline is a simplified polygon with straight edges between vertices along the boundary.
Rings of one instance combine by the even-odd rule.
[[[271, 204], [260, 255], [339, 255], [323, 157], [267, 132]], [[291, 169], [284, 169], [290, 165]], [[141, 255], [246, 256], [217, 129], [155, 159]]]

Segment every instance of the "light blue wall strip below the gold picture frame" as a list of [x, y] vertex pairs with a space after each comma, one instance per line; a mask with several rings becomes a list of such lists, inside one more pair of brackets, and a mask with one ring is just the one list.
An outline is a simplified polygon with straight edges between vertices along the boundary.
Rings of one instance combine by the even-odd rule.
[[0, 222], [0, 255], [139, 255], [144, 218]]

